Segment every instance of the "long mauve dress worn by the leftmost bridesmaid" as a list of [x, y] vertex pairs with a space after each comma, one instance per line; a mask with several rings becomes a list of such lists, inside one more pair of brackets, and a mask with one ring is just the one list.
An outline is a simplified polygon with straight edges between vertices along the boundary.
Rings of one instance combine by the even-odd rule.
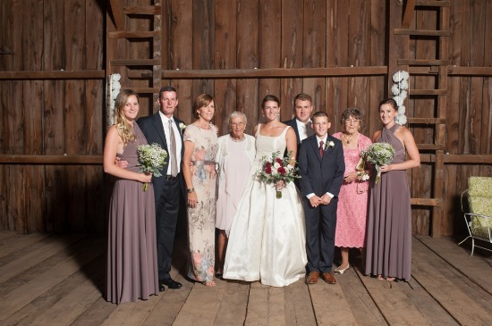
[[[137, 146], [147, 144], [139, 125], [133, 123], [135, 143], [122, 155], [127, 170], [139, 171]], [[148, 184], [118, 179], [109, 205], [107, 238], [106, 300], [114, 304], [148, 299], [159, 293], [154, 188]]]

